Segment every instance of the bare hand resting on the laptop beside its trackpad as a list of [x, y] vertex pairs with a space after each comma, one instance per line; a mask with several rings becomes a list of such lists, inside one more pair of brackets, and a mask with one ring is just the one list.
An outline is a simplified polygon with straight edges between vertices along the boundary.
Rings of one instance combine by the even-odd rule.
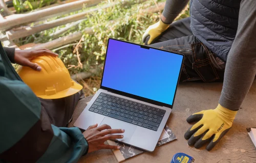
[[89, 145], [88, 153], [100, 149], [120, 149], [118, 146], [106, 145], [104, 142], [107, 140], [122, 139], [123, 135], [114, 133], [123, 133], [124, 129], [111, 129], [111, 127], [106, 124], [99, 127], [97, 126], [98, 124], [94, 124], [82, 133]]

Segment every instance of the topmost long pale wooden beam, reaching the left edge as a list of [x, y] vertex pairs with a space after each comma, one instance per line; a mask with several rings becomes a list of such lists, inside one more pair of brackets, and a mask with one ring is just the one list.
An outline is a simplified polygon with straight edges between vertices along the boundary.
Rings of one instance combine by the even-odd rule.
[[8, 19], [0, 22], [0, 30], [12, 28], [16, 25], [29, 23], [36, 21], [40, 18], [51, 16], [57, 13], [67, 12], [73, 9], [81, 9], [83, 7], [83, 4], [86, 4], [87, 7], [95, 6], [99, 4], [101, 0], [81, 0], [76, 1], [68, 4], [63, 4], [59, 6], [55, 6], [52, 8], [47, 8], [44, 10], [39, 10], [27, 14], [17, 14], [12, 17], [8, 17]]

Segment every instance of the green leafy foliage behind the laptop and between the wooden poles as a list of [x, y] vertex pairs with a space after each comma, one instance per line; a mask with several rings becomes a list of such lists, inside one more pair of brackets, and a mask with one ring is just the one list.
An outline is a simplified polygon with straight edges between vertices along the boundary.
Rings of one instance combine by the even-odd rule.
[[[88, 14], [85, 17], [87, 18], [86, 20], [82, 21], [77, 26], [73, 26], [67, 32], [60, 35], [59, 37], [66, 36], [77, 31], [84, 31], [84, 29], [86, 28], [92, 28], [94, 32], [93, 35], [89, 35], [83, 32], [82, 41], [78, 46], [78, 52], [80, 55], [79, 58], [83, 66], [82, 68], [70, 68], [70, 73], [75, 74], [81, 71], [89, 71], [92, 68], [102, 65], [105, 59], [104, 57], [108, 38], [116, 38], [142, 44], [141, 39], [144, 31], [148, 28], [149, 25], [156, 23], [159, 20], [159, 15], [161, 14], [161, 11], [157, 10], [154, 1], [156, 3], [165, 2], [164, 0], [104, 1], [96, 7], [93, 7], [100, 8], [98, 11], [92, 12], [90, 13], [90, 15]], [[111, 5], [111, 7], [102, 9], [106, 5]], [[148, 8], [151, 8], [155, 11], [153, 13], [147, 13], [146, 9]], [[90, 9], [92, 8], [84, 8], [83, 10], [51, 18], [50, 20], [76, 14]], [[185, 13], [181, 15], [180, 18], [187, 17], [188, 15], [189, 11], [185, 11]], [[19, 39], [19, 41], [16, 43], [19, 45], [23, 45], [31, 42], [48, 42], [54, 39], [52, 37], [53, 33], [65, 27], [66, 25], [61, 25], [50, 30], [42, 31], [35, 35]], [[76, 51], [73, 51], [77, 42], [53, 50], [54, 52], [59, 54], [60, 59], [65, 63], [66, 67], [70, 67], [69, 65], [78, 65], [77, 53]]]

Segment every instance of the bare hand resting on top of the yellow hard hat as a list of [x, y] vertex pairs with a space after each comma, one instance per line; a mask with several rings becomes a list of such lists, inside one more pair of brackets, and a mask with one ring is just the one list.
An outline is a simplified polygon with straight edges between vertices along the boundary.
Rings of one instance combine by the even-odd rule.
[[30, 61], [38, 56], [46, 56], [46, 55], [49, 55], [52, 57], [58, 57], [58, 54], [48, 49], [15, 50], [14, 62], [22, 66], [30, 67], [36, 71], [41, 71], [40, 66]]

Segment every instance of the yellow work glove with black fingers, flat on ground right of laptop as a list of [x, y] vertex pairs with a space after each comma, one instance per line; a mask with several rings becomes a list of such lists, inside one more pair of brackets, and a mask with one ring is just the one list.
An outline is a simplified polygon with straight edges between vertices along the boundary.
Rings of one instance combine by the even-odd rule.
[[231, 128], [234, 117], [238, 111], [230, 111], [220, 104], [214, 110], [206, 110], [195, 113], [187, 118], [187, 122], [197, 122], [185, 133], [188, 145], [195, 148], [202, 147], [210, 142], [206, 149], [209, 151], [220, 141], [220, 139]]

